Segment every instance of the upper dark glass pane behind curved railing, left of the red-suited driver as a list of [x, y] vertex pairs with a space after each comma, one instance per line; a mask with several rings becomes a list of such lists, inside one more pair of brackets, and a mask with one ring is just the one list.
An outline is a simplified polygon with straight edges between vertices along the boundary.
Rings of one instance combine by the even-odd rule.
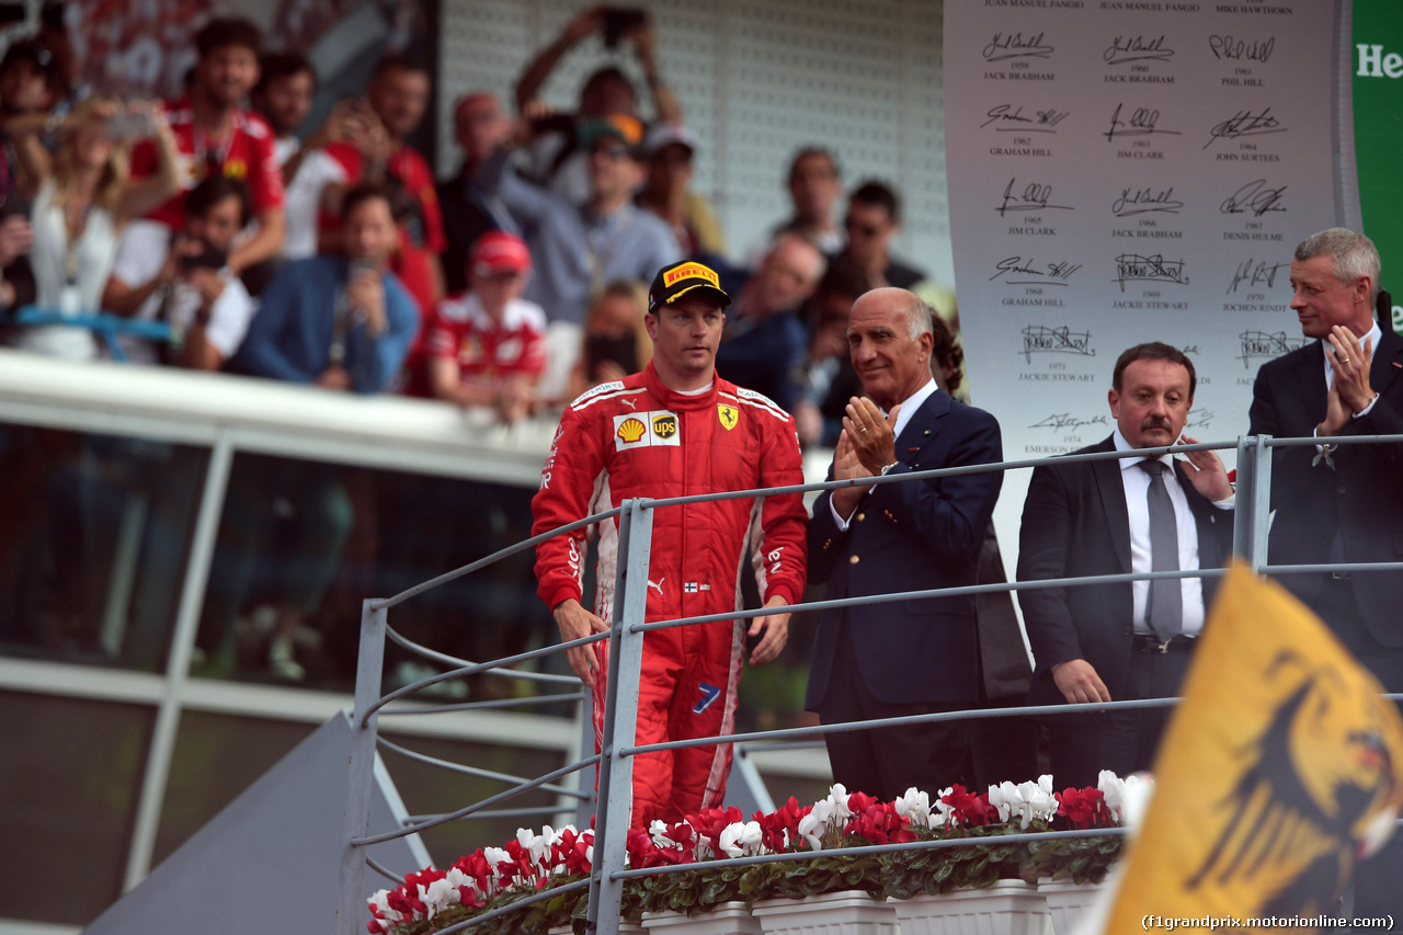
[[[198, 636], [196, 677], [351, 691], [361, 601], [530, 536], [533, 490], [265, 455], [236, 455]], [[523, 552], [396, 608], [405, 637], [471, 661], [543, 646], [554, 625]], [[564, 668], [563, 663], [553, 663]], [[429, 670], [398, 647], [386, 684]], [[556, 670], [553, 670], [556, 671]], [[535, 694], [483, 675], [453, 699]]]

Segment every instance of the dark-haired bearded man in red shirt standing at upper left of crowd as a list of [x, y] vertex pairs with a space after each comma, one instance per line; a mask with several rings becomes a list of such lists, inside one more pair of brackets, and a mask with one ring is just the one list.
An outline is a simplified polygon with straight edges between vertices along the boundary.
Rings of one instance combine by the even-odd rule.
[[[258, 83], [262, 34], [248, 20], [210, 20], [195, 34], [199, 60], [189, 93], [166, 108], [181, 154], [181, 192], [149, 215], [170, 230], [185, 226], [185, 192], [210, 174], [237, 178], [253, 197], [257, 233], [229, 254], [229, 270], [240, 274], [282, 248], [282, 170], [274, 154], [274, 133], [241, 104]], [[157, 171], [153, 140], [132, 153], [132, 175]], [[142, 234], [136, 234], [142, 236]]]

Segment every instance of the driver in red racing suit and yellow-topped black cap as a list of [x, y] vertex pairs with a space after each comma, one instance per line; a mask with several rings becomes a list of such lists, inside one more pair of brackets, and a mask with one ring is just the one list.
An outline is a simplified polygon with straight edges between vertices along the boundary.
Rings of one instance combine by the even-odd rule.
[[[533, 535], [617, 507], [631, 497], [680, 497], [804, 483], [794, 420], [765, 396], [716, 373], [716, 348], [730, 296], [697, 263], [662, 268], [648, 292], [644, 323], [652, 362], [643, 373], [603, 383], [565, 410], [540, 490]], [[738, 574], [748, 546], [766, 608], [804, 591], [807, 517], [800, 494], [665, 507], [652, 519], [647, 619], [724, 614], [738, 606]], [[609, 629], [619, 526], [599, 526], [596, 592], [581, 605], [585, 533], [536, 548], [537, 594], [563, 640]], [[751, 663], [784, 647], [788, 614], [651, 630], [643, 644], [638, 744], [732, 731], [746, 637]], [[607, 643], [568, 651], [595, 694], [595, 737], [603, 727]], [[633, 769], [633, 824], [680, 821], [721, 804], [731, 747], [647, 754]]]

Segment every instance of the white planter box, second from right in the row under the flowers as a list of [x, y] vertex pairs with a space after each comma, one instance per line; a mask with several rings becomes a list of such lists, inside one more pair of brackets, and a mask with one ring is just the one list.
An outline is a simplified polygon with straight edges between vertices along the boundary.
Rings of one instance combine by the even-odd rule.
[[887, 901], [901, 920], [901, 935], [1052, 935], [1047, 900], [1023, 880]]

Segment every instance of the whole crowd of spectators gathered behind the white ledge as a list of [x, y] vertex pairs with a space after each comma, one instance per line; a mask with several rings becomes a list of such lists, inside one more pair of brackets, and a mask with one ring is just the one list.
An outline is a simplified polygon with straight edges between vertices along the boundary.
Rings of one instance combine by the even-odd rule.
[[[539, 91], [592, 35], [636, 56], [647, 94], [610, 66], [574, 112], [556, 112]], [[788, 167], [793, 213], [752, 256], [728, 256], [692, 188], [706, 143], [655, 45], [645, 14], [585, 10], [523, 69], [515, 114], [487, 91], [456, 100], [462, 159], [435, 180], [408, 142], [434, 81], [411, 55], [386, 55], [362, 94], [309, 126], [313, 65], [267, 52], [246, 20], [199, 29], [185, 94], [166, 102], [83, 86], [63, 31], [13, 41], [0, 62], [0, 344], [435, 397], [513, 423], [645, 366], [644, 284], [696, 258], [737, 296], [723, 376], [794, 411], [805, 442], [833, 444], [856, 385], [847, 307], [926, 278], [890, 253], [899, 198], [866, 181], [839, 218], [836, 157], [804, 147]], [[948, 296], [934, 303], [953, 316]], [[125, 319], [116, 341], [97, 316]]]

